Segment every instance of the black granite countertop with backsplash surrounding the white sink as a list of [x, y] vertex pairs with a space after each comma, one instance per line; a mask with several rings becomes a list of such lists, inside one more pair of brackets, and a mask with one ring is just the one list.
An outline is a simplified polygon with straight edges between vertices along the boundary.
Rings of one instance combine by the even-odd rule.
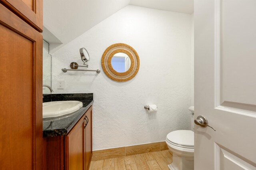
[[[43, 119], [43, 136], [64, 136], [68, 134], [68, 132], [74, 127], [77, 121], [84, 115], [84, 113], [89, 109], [90, 106], [94, 103], [93, 97], [81, 97], [80, 95], [92, 94], [92, 93], [80, 93], [80, 94], [52, 94], [52, 101], [70, 101], [76, 100], [83, 102], [83, 107], [81, 107], [78, 111], [73, 113]], [[45, 97], [44, 102], [48, 102], [48, 95]], [[55, 97], [53, 97], [55, 96]], [[59, 96], [59, 97], [56, 97]], [[66, 96], [66, 97], [63, 97]], [[68, 96], [68, 97], [67, 97]], [[80, 96], [81, 99], [78, 99], [77, 96]], [[50, 100], [51, 101], [51, 100]]]

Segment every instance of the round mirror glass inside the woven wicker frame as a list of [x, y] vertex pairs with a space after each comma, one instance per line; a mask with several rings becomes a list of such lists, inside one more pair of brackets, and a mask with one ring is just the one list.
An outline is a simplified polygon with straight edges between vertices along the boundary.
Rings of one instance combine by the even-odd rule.
[[125, 53], [116, 53], [111, 59], [111, 65], [115, 71], [123, 73], [130, 68], [131, 60]]

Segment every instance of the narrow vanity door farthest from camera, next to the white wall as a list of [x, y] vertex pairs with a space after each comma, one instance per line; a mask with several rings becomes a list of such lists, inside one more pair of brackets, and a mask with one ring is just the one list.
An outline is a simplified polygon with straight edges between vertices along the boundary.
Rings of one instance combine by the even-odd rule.
[[92, 106], [86, 111], [85, 118], [87, 125], [85, 128], [85, 170], [89, 169], [92, 156]]

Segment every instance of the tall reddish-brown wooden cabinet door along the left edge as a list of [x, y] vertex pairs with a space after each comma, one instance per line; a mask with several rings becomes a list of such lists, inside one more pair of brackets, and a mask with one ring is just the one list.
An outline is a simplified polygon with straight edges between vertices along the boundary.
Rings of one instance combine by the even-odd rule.
[[42, 170], [42, 35], [0, 4], [0, 169]]

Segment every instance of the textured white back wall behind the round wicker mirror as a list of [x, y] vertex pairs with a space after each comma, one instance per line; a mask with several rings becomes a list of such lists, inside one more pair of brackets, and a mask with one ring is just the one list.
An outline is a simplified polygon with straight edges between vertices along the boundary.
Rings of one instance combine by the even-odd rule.
[[[93, 150], [163, 141], [172, 130], [190, 128], [191, 20], [189, 14], [126, 6], [53, 54], [54, 93], [94, 93]], [[90, 53], [89, 69], [102, 70], [101, 56], [113, 43], [138, 52], [140, 69], [132, 80], [61, 71], [72, 61], [82, 65], [80, 47]], [[65, 89], [58, 90], [62, 79]], [[157, 113], [148, 114], [148, 104], [156, 104]]]

